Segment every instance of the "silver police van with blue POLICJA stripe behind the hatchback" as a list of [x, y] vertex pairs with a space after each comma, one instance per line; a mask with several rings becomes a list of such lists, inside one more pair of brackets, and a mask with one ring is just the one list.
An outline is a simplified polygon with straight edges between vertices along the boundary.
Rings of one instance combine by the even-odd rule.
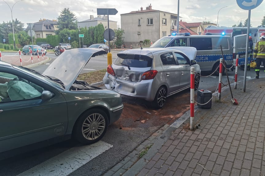
[[[237, 42], [235, 42], [237, 43]], [[174, 47], [174, 46], [192, 46], [197, 49], [196, 61], [200, 65], [201, 71], [215, 71], [220, 64], [222, 57], [221, 47], [224, 54], [224, 62], [227, 68], [233, 70], [233, 46], [229, 36], [222, 35], [170, 35], [158, 39], [150, 47]], [[237, 47], [238, 48], [238, 47]], [[241, 49], [241, 47], [239, 47]], [[223, 68], [224, 71], [224, 68]], [[219, 75], [219, 69], [215, 72]]]

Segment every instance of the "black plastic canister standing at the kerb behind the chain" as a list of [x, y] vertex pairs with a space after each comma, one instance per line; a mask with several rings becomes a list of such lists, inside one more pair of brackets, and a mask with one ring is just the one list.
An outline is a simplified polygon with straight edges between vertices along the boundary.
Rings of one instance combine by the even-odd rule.
[[[209, 91], [209, 90], [198, 90], [198, 92], [197, 92], [197, 105], [198, 105], [198, 107], [202, 108], [202, 109], [211, 108], [212, 107], [212, 99], [211, 98], [212, 98], [212, 92], [211, 91]], [[207, 104], [205, 104], [205, 103], [207, 103]], [[200, 104], [205, 104], [205, 105], [200, 105]]]

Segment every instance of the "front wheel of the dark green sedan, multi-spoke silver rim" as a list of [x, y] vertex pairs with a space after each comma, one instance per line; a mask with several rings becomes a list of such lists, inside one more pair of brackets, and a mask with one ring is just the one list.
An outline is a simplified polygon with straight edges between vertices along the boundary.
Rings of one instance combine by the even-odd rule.
[[88, 145], [99, 141], [105, 135], [109, 120], [101, 109], [90, 109], [76, 121], [74, 137], [82, 144]]

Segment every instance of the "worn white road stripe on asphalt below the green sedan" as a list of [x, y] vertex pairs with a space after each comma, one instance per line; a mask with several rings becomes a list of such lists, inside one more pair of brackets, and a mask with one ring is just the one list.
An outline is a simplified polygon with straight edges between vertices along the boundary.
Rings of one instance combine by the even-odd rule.
[[111, 147], [104, 141], [73, 147], [17, 176], [66, 176]]

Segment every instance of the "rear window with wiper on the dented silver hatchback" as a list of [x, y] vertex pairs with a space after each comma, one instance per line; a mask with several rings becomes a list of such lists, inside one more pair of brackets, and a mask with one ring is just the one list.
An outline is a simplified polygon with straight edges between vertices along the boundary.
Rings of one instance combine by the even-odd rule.
[[127, 66], [136, 68], [146, 68], [152, 66], [153, 59], [151, 57], [139, 54], [118, 54], [114, 64], [119, 66]]

